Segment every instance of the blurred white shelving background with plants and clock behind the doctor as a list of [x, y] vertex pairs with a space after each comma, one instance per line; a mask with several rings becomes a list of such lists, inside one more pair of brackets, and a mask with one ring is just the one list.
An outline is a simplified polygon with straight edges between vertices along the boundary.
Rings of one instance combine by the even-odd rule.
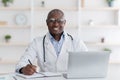
[[47, 32], [54, 8], [89, 51], [110, 51], [110, 63], [120, 63], [120, 0], [0, 0], [0, 73], [14, 72], [28, 44]]

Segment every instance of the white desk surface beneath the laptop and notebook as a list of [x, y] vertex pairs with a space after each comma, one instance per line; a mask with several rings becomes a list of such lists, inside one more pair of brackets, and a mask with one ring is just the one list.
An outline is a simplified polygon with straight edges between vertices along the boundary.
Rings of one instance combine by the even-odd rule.
[[[99, 79], [65, 79], [64, 77], [45, 77], [45, 78], [36, 78], [36, 79], [23, 79], [21, 77], [15, 76], [17, 80], [120, 80], [120, 64], [109, 64], [108, 74], [106, 78]], [[9, 80], [15, 80], [10, 74]]]

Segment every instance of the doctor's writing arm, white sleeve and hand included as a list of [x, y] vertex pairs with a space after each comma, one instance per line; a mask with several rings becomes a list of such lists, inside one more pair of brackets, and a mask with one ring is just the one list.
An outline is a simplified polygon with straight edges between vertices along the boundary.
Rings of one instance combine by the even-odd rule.
[[16, 65], [16, 72], [20, 72], [26, 75], [31, 75], [36, 72], [36, 66], [30, 65], [28, 62], [28, 59], [32, 62], [36, 59], [36, 53], [36, 42], [34, 40], [25, 50], [24, 55]]

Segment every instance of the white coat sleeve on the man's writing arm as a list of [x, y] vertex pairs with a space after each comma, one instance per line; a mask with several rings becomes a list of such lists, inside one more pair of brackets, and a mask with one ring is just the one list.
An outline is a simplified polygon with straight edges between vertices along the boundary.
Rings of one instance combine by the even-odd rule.
[[16, 64], [16, 72], [19, 73], [19, 70], [29, 64], [28, 59], [33, 62], [36, 59], [36, 41], [34, 40], [25, 50], [25, 53], [23, 56], [21, 56], [19, 62]]

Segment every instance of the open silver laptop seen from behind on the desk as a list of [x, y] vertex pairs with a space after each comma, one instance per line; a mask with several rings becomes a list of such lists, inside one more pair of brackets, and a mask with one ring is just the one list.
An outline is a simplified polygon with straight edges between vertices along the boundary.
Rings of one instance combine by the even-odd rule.
[[110, 52], [69, 52], [65, 78], [104, 78], [107, 75]]

